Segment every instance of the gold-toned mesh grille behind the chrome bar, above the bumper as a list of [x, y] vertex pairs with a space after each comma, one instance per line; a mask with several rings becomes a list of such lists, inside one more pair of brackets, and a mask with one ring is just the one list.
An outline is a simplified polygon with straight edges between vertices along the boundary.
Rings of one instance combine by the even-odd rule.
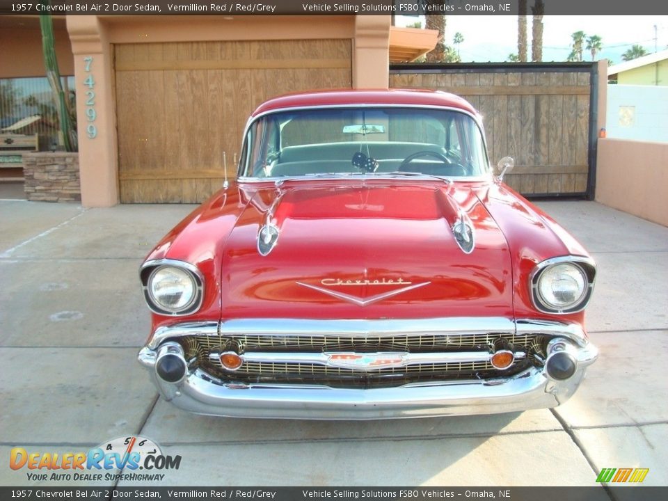
[[[223, 380], [245, 383], [315, 383], [340, 387], [379, 387], [402, 385], [418, 381], [447, 381], [451, 379], [485, 379], [520, 372], [532, 363], [536, 355], [544, 356], [548, 337], [534, 334], [511, 333], [428, 333], [407, 335], [195, 335], [181, 337], [186, 358], [191, 364]], [[283, 363], [246, 361], [234, 372], [225, 369], [218, 360], [209, 360], [209, 353], [234, 350], [239, 353], [268, 351], [276, 353], [334, 353], [405, 351], [429, 353], [432, 351], [486, 350], [495, 342], [504, 340], [515, 349], [525, 351], [527, 357], [516, 360], [504, 371], [488, 362], [420, 363], [403, 367], [385, 367], [373, 370], [331, 367], [319, 363]]]

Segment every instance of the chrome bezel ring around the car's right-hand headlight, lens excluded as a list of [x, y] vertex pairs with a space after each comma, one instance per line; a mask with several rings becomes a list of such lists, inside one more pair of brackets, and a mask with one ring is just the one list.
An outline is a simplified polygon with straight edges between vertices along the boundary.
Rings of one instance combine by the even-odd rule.
[[[540, 280], [545, 276], [546, 271], [553, 269], [556, 266], [568, 264], [576, 271], [582, 273], [584, 277], [584, 292], [578, 298], [578, 301], [560, 308], [557, 305], [550, 304], [540, 292]], [[543, 313], [556, 313], [557, 315], [567, 315], [568, 313], [577, 313], [584, 310], [591, 299], [591, 292], [594, 290], [594, 283], [596, 281], [596, 263], [591, 257], [584, 256], [562, 256], [552, 257], [551, 259], [539, 262], [534, 267], [529, 277], [529, 289], [531, 291], [531, 299], [536, 310]]]

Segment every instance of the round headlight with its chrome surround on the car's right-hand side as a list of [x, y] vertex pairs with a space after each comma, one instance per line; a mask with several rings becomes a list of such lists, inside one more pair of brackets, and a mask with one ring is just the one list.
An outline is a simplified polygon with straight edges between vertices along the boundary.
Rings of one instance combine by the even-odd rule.
[[594, 262], [584, 257], [561, 257], [538, 264], [531, 279], [534, 305], [551, 313], [582, 310], [591, 296], [595, 274]]

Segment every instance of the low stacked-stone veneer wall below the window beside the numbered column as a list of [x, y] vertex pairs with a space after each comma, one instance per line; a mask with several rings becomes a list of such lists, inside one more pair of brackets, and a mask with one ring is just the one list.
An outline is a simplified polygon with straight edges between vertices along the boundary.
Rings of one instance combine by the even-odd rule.
[[80, 202], [79, 153], [23, 154], [26, 198], [35, 202]]

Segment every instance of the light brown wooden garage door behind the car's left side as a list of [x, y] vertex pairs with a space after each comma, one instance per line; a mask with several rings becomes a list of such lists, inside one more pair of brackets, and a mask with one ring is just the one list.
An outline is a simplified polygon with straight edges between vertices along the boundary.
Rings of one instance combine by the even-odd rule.
[[269, 97], [351, 87], [350, 40], [116, 45], [120, 200], [201, 202]]

